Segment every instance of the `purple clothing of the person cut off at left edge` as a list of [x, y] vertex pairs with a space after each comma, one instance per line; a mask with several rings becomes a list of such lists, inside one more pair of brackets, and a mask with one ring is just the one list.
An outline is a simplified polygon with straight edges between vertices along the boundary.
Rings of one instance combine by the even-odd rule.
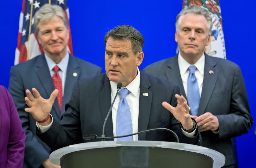
[[25, 134], [8, 90], [0, 86], [0, 167], [21, 168]]

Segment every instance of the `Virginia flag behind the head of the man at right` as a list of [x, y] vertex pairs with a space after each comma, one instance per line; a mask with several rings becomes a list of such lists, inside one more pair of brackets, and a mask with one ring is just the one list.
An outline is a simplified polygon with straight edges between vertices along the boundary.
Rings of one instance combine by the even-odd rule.
[[222, 27], [221, 7], [219, 0], [183, 0], [182, 8], [189, 5], [199, 5], [211, 12], [212, 34], [211, 43], [205, 47], [205, 53], [211, 56], [226, 59], [226, 48]]

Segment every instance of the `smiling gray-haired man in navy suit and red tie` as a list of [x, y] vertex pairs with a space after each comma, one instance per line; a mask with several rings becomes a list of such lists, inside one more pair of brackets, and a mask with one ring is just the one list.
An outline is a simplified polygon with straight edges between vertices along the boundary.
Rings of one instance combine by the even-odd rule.
[[51, 111], [56, 122], [65, 112], [74, 83], [102, 73], [102, 68], [70, 55], [67, 51], [68, 24], [64, 11], [57, 5], [43, 5], [34, 17], [35, 32], [44, 53], [11, 68], [9, 92], [17, 107], [26, 134], [23, 167], [50, 167], [50, 148], [36, 135], [35, 120], [24, 111], [25, 89], [37, 88], [43, 98], [54, 89], [60, 92]]

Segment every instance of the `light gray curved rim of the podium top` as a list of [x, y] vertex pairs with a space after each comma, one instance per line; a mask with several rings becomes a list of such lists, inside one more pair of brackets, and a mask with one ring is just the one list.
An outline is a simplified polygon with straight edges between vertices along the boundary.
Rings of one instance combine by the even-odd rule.
[[225, 164], [225, 156], [212, 149], [191, 145], [185, 143], [176, 142], [164, 142], [164, 141], [98, 141], [98, 142], [87, 142], [75, 145], [66, 146], [60, 148], [50, 155], [50, 162], [54, 165], [60, 165], [60, 158], [68, 153], [90, 150], [96, 148], [106, 148], [106, 147], [122, 147], [122, 146], [139, 146], [139, 147], [159, 147], [159, 148], [169, 148], [175, 150], [189, 151], [194, 153], [203, 154], [209, 156], [213, 159], [213, 168], [220, 168]]

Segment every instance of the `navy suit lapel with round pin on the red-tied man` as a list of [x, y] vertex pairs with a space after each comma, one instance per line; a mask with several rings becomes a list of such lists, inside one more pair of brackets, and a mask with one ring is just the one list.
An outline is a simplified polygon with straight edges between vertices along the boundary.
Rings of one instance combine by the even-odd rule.
[[70, 99], [73, 86], [79, 79], [79, 75], [80, 75], [79, 64], [76, 62], [75, 57], [70, 55], [68, 60], [68, 65], [67, 65], [67, 75], [65, 80], [65, 88], [64, 88], [61, 113], [65, 112], [65, 104]]

